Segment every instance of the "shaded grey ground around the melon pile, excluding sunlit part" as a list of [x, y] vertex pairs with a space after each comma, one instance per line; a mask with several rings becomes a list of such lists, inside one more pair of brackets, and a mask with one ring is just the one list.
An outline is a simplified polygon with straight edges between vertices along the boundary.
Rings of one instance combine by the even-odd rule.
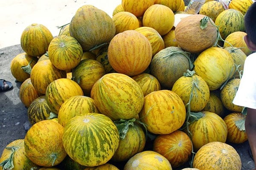
[[[15, 78], [10, 71], [12, 59], [22, 53], [20, 45], [0, 49], [0, 79], [6, 79], [13, 84], [13, 89], [0, 92], [0, 155], [7, 144], [16, 140], [24, 139], [26, 131], [30, 125], [27, 118], [27, 108], [19, 99], [20, 82], [15, 82]], [[230, 144], [241, 157], [242, 169], [252, 170], [254, 168], [253, 159], [249, 155], [248, 142], [242, 144]], [[188, 166], [187, 164], [183, 167]], [[177, 170], [182, 167], [177, 168]], [[175, 169], [174, 169], [175, 170]]]

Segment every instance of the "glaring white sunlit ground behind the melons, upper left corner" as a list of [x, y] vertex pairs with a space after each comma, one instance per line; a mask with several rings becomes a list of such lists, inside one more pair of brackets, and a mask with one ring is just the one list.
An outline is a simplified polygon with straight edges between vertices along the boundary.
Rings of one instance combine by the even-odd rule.
[[58, 27], [70, 23], [79, 7], [90, 4], [112, 17], [120, 3], [122, 0], [1, 0], [0, 49], [20, 44], [22, 31], [32, 23], [43, 24], [56, 36]]

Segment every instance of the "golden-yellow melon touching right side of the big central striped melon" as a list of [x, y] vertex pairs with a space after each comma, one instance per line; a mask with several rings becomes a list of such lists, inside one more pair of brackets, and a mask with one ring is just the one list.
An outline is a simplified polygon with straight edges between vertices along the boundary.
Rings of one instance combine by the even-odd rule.
[[139, 117], [141, 122], [147, 125], [149, 132], [169, 134], [183, 125], [186, 108], [180, 97], [173, 91], [154, 91], [145, 96]]

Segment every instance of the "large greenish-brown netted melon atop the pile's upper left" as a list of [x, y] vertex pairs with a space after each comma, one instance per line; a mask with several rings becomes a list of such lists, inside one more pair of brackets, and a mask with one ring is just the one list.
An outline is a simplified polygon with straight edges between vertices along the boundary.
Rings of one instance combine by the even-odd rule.
[[84, 51], [110, 42], [116, 32], [112, 18], [105, 11], [92, 5], [81, 6], [69, 27], [70, 35], [78, 40]]

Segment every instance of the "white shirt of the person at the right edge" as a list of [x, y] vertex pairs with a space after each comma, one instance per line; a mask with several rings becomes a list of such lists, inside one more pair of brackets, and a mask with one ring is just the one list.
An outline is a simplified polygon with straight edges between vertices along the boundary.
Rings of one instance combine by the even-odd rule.
[[244, 71], [233, 104], [256, 109], [256, 53], [245, 59]]

